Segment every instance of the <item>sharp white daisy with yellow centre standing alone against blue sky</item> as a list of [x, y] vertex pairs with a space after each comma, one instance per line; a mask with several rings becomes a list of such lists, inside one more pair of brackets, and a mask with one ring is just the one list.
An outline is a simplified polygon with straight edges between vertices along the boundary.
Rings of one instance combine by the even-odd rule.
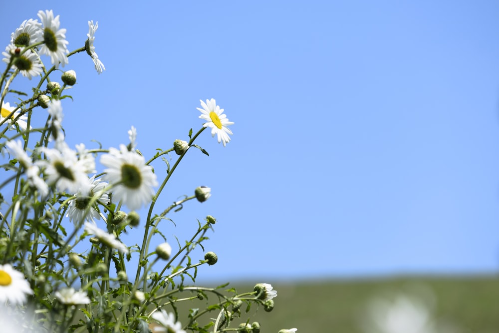
[[197, 107], [202, 113], [199, 117], [207, 121], [203, 124], [203, 127], [210, 127], [212, 129], [212, 137], [217, 134], [218, 142], [220, 143], [220, 141], [222, 141], [225, 147], [227, 142], [231, 141], [229, 134], [232, 135], [232, 131], [227, 126], [234, 123], [227, 119], [227, 115], [223, 114], [224, 109], [221, 109], [220, 106], [217, 105], [215, 99], [207, 99], [206, 103], [202, 100], [200, 100], [200, 102], [203, 108]]

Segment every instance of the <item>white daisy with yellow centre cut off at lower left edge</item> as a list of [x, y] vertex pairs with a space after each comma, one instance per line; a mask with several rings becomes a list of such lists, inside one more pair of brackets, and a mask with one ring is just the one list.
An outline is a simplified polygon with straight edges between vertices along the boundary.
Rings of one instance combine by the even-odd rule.
[[26, 302], [26, 295], [32, 294], [22, 273], [9, 264], [0, 265], [0, 303], [8, 301], [11, 305], [22, 305]]

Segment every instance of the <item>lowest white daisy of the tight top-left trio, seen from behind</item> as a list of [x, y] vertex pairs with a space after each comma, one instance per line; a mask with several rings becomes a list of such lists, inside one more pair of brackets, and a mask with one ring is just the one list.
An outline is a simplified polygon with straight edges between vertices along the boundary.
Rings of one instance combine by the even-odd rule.
[[8, 64], [12, 60], [12, 66], [16, 67], [22, 76], [28, 79], [38, 76], [43, 72], [38, 54], [31, 49], [24, 50], [21, 47], [8, 44], [5, 47], [5, 52], [1, 52], [1, 54], [5, 56], [2, 59], [3, 62]]

